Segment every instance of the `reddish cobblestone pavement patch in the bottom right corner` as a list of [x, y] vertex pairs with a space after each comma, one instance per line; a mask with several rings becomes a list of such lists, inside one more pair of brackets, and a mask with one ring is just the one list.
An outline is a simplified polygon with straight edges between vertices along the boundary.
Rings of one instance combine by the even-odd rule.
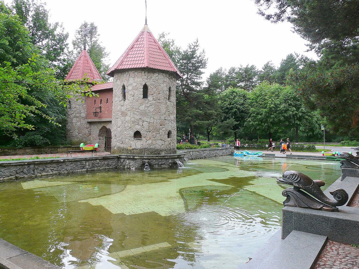
[[359, 248], [328, 240], [314, 269], [359, 269]]

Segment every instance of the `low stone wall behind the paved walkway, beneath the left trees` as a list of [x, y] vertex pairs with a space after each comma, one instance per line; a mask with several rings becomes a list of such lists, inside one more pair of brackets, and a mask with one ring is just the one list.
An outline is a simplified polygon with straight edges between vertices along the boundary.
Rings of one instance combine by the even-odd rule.
[[8, 155], [31, 155], [31, 154], [56, 154], [66, 153], [68, 150], [77, 150], [79, 146], [61, 146], [61, 147], [2, 147], [0, 156]]

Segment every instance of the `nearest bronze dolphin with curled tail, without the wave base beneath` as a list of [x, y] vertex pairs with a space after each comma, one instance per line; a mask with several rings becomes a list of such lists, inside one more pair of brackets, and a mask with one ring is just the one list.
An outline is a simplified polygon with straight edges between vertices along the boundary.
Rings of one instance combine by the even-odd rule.
[[348, 193], [343, 189], [336, 189], [333, 192], [329, 192], [335, 200], [329, 199], [320, 188], [325, 185], [324, 181], [312, 180], [309, 176], [297, 171], [285, 171], [283, 177], [277, 178], [277, 182], [293, 185], [294, 190], [303, 189], [320, 202], [332, 207], [343, 206], [349, 199]]

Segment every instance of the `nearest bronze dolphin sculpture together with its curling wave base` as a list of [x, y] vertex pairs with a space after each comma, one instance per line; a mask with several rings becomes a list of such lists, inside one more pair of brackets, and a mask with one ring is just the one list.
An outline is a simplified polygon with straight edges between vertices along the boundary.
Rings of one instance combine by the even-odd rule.
[[320, 188], [325, 185], [324, 181], [312, 180], [309, 176], [297, 171], [285, 171], [281, 178], [277, 178], [277, 182], [293, 186], [282, 192], [282, 195], [287, 197], [283, 202], [285, 206], [339, 211], [337, 207], [343, 206], [349, 199], [348, 193], [343, 189], [329, 192], [334, 200], [328, 198]]

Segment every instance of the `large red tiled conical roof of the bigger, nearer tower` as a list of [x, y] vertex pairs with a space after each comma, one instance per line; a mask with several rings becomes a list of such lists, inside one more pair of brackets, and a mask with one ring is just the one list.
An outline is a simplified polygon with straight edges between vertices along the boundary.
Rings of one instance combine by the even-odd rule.
[[156, 38], [154, 38], [147, 24], [117, 62], [108, 70], [107, 74], [113, 76], [115, 70], [133, 68], [172, 71], [176, 73], [177, 78], [183, 77]]

